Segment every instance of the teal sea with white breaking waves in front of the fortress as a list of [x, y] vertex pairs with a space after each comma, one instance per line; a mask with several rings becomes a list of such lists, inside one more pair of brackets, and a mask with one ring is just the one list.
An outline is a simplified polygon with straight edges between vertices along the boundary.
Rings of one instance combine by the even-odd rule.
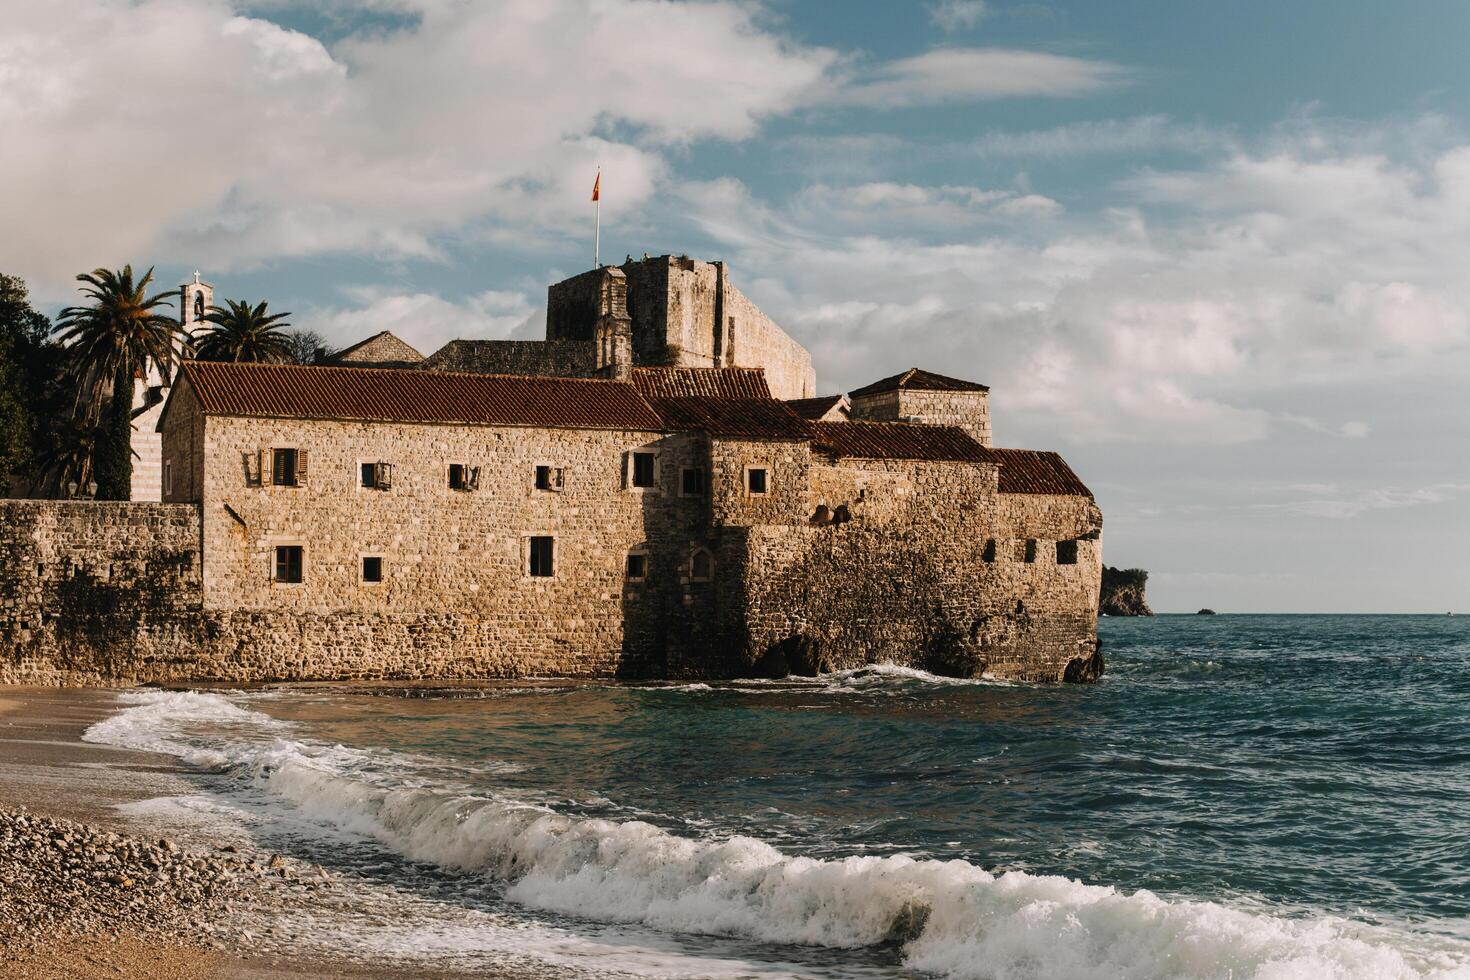
[[137, 691], [85, 738], [341, 883], [263, 936], [404, 971], [1470, 979], [1470, 617], [1100, 632], [1095, 685]]

